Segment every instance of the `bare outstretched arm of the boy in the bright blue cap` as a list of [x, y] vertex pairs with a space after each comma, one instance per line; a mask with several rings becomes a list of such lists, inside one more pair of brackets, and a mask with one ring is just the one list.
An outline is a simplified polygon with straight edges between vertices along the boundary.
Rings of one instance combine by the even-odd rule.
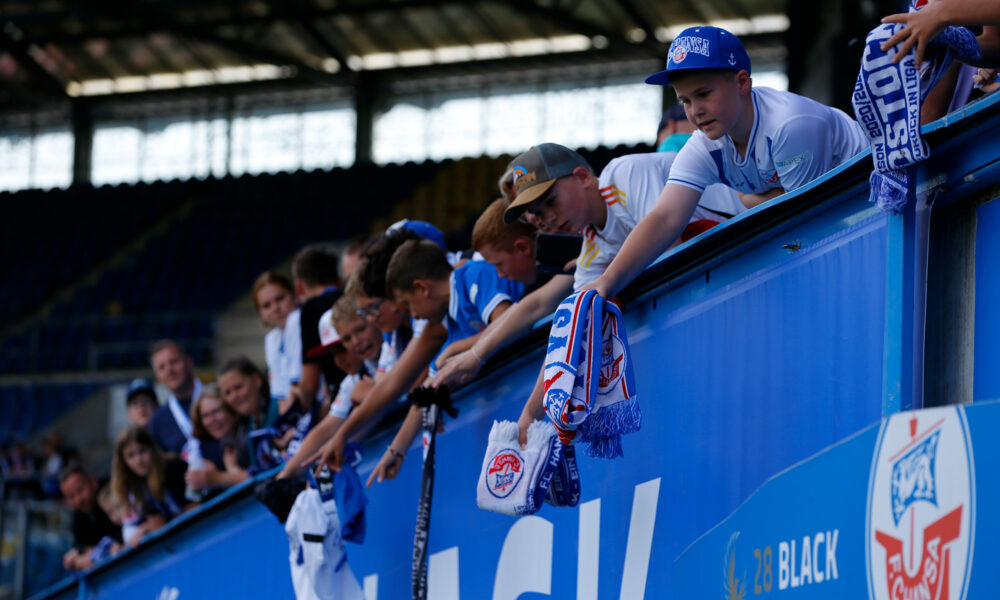
[[667, 183], [656, 206], [625, 238], [621, 250], [604, 274], [583, 289], [613, 298], [649, 263], [670, 248], [687, 226], [701, 192], [678, 183]]

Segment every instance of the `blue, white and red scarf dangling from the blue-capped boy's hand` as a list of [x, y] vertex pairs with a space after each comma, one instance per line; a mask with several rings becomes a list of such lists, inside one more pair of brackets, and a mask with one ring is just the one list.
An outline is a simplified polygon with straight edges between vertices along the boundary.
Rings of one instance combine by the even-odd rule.
[[621, 456], [622, 434], [639, 430], [624, 319], [594, 290], [574, 292], [556, 309], [543, 403], [559, 439], [570, 444], [579, 432], [591, 456]]

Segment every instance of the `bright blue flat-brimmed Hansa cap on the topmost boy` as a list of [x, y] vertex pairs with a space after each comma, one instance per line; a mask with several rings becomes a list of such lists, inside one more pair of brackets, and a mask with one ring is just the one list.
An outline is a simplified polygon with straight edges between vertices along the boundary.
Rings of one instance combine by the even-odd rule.
[[670, 74], [694, 69], [731, 69], [750, 72], [750, 57], [739, 38], [725, 29], [703, 25], [688, 27], [670, 44], [667, 68], [646, 78], [646, 83], [671, 85]]

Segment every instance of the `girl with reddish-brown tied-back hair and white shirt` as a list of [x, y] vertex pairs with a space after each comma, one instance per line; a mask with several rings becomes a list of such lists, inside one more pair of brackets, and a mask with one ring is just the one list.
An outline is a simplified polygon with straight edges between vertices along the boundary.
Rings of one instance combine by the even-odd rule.
[[302, 337], [299, 333], [299, 310], [291, 280], [277, 271], [265, 271], [257, 277], [251, 293], [254, 308], [264, 327], [264, 356], [267, 360], [268, 389], [279, 408], [286, 408], [292, 384], [298, 384], [302, 371]]

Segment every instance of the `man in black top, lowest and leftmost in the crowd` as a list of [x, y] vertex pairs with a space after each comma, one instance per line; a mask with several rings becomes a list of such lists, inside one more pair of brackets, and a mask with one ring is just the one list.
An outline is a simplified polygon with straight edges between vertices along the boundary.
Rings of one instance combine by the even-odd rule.
[[59, 476], [59, 489], [73, 508], [73, 547], [63, 555], [63, 567], [69, 571], [89, 569], [95, 562], [91, 553], [104, 538], [121, 543], [121, 527], [98, 504], [97, 478], [83, 467], [67, 467]]

